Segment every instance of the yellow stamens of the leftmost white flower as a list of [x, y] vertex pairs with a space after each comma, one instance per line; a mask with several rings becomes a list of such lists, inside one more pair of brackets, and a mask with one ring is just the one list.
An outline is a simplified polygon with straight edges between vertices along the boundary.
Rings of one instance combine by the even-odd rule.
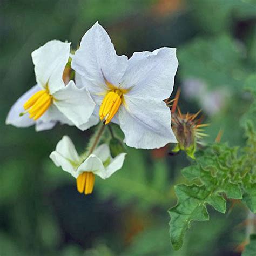
[[49, 91], [41, 90], [30, 97], [23, 107], [29, 113], [30, 118], [37, 120], [49, 109], [51, 103], [52, 96], [49, 94]]

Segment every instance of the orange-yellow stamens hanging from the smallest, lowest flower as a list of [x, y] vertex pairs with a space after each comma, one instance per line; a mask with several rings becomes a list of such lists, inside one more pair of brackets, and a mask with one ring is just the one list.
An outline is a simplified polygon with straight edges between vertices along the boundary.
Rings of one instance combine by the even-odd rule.
[[95, 184], [95, 174], [83, 172], [77, 177], [77, 190], [80, 193], [91, 194]]

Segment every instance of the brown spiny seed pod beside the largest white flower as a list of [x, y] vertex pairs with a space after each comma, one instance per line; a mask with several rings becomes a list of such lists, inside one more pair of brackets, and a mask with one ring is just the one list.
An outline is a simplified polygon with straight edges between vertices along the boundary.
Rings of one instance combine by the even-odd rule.
[[198, 118], [201, 110], [196, 114], [182, 114], [178, 107], [179, 96], [180, 90], [177, 91], [174, 100], [171, 100], [173, 102], [172, 106], [170, 106], [171, 102], [167, 102], [172, 112], [172, 130], [178, 140], [178, 144], [172, 151], [179, 152], [183, 150], [189, 157], [194, 159], [197, 144], [202, 144], [201, 138], [207, 136], [201, 128], [208, 126], [208, 124], [201, 124], [203, 118]]

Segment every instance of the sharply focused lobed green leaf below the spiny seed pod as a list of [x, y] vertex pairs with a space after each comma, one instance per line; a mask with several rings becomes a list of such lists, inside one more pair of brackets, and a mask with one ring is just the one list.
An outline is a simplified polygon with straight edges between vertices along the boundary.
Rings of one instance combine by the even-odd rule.
[[213, 144], [197, 153], [196, 163], [181, 172], [192, 185], [177, 185], [178, 203], [169, 210], [170, 236], [178, 250], [191, 221], [208, 220], [206, 205], [225, 213], [227, 198], [241, 199], [241, 159], [238, 149], [226, 144]]

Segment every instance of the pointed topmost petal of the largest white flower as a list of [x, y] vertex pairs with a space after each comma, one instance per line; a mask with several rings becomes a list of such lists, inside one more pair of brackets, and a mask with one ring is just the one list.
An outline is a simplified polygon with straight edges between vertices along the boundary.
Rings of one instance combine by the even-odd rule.
[[71, 66], [83, 76], [84, 86], [95, 97], [107, 89], [104, 77], [113, 85], [119, 85], [127, 67], [127, 57], [116, 54], [109, 35], [96, 22], [83, 36]]

